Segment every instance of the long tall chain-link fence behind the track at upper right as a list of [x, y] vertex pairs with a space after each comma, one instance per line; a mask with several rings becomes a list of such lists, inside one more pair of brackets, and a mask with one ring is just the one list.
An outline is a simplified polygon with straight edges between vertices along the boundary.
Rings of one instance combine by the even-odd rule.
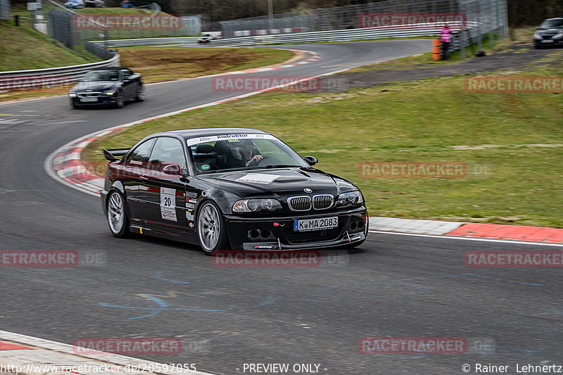
[[359, 28], [413, 28], [429, 25], [461, 30], [479, 23], [479, 32], [506, 36], [506, 0], [387, 0], [221, 21], [224, 38]]

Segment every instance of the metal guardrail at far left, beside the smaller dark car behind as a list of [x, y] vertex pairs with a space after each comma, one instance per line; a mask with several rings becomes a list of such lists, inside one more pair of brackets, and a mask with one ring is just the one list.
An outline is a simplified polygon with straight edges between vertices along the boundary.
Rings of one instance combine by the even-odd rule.
[[61, 68], [45, 68], [33, 70], [12, 70], [0, 72], [0, 91], [11, 89], [47, 88], [72, 84], [94, 68], [119, 66], [120, 56], [115, 56], [96, 63], [63, 66]]

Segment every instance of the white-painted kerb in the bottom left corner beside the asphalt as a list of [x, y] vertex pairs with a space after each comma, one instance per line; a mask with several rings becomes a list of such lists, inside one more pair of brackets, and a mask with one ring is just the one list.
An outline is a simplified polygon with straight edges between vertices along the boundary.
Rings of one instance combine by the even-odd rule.
[[[14, 341], [15, 343], [21, 343], [24, 345], [31, 345], [42, 350], [1, 350], [0, 351], [0, 364], [18, 364], [27, 365], [30, 363], [38, 363], [44, 365], [53, 364], [65, 364], [73, 365], [72, 362], [79, 364], [94, 364], [102, 366], [104, 363], [117, 364], [119, 366], [125, 367], [128, 364], [130, 366], [146, 365], [145, 368], [160, 369], [163, 368], [163, 364], [158, 362], [152, 362], [147, 360], [139, 360], [139, 358], [126, 357], [125, 355], [118, 355], [108, 352], [100, 352], [99, 354], [77, 354], [75, 352], [75, 347], [65, 343], [58, 343], [56, 341], [45, 340], [44, 338], [37, 338], [32, 336], [20, 335], [19, 333], [13, 333], [8, 331], [0, 331], [0, 339], [7, 341]], [[47, 352], [47, 350], [50, 350]], [[13, 355], [10, 352], [14, 352]], [[10, 362], [4, 362], [9, 360]], [[45, 362], [40, 362], [45, 361]], [[148, 367], [148, 366], [151, 367]], [[124, 369], [125, 370], [125, 369]], [[45, 371], [48, 373], [51, 371]], [[125, 372], [125, 371], [124, 371]], [[153, 374], [165, 374], [165, 375], [213, 375], [208, 372], [202, 371], [151, 371]], [[30, 372], [30, 374], [43, 374], [41, 372]], [[115, 374], [115, 373], [110, 373]], [[129, 375], [132, 372], [129, 371]]]

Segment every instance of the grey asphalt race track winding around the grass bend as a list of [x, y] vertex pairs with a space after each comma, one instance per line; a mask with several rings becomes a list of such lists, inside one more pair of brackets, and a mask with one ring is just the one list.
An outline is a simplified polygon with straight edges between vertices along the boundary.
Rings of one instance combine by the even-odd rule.
[[[430, 42], [290, 48], [323, 58], [260, 74], [319, 75], [429, 51]], [[0, 249], [104, 260], [0, 267], [0, 329], [70, 344], [181, 338], [179, 355], [140, 357], [214, 374], [243, 374], [245, 363], [320, 364], [327, 375], [463, 374], [462, 364], [476, 362], [514, 373], [516, 364], [561, 360], [560, 269], [464, 265], [469, 250], [559, 247], [372, 232], [358, 250], [325, 254], [317, 267], [216, 267], [183, 243], [115, 239], [99, 198], [44, 171], [45, 158], [79, 136], [234, 95], [200, 78], [149, 85], [144, 103], [122, 110], [72, 110], [60, 96], [0, 105]], [[364, 337], [461, 337], [472, 345], [464, 354], [363, 354]]]

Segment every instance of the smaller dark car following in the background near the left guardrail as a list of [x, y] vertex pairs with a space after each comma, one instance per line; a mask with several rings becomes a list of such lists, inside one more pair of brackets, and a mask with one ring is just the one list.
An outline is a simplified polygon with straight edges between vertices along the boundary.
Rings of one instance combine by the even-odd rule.
[[98, 68], [87, 72], [70, 92], [72, 108], [114, 106], [122, 108], [129, 100], [144, 101], [145, 87], [141, 75], [120, 66]]

